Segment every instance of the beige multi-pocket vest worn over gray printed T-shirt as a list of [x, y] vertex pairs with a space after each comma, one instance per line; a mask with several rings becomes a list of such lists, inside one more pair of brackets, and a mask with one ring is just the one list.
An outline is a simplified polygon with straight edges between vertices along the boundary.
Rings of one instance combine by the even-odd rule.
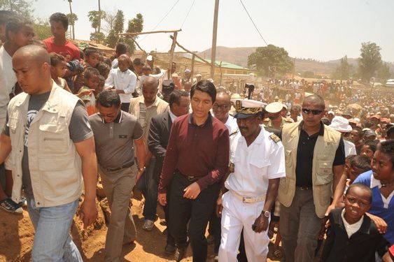
[[[24, 129], [30, 96], [15, 96], [8, 105], [11, 139], [13, 200], [20, 201]], [[81, 159], [69, 135], [71, 115], [78, 97], [52, 84], [48, 101], [31, 122], [28, 134], [31, 187], [37, 208], [76, 201], [83, 189]]]

